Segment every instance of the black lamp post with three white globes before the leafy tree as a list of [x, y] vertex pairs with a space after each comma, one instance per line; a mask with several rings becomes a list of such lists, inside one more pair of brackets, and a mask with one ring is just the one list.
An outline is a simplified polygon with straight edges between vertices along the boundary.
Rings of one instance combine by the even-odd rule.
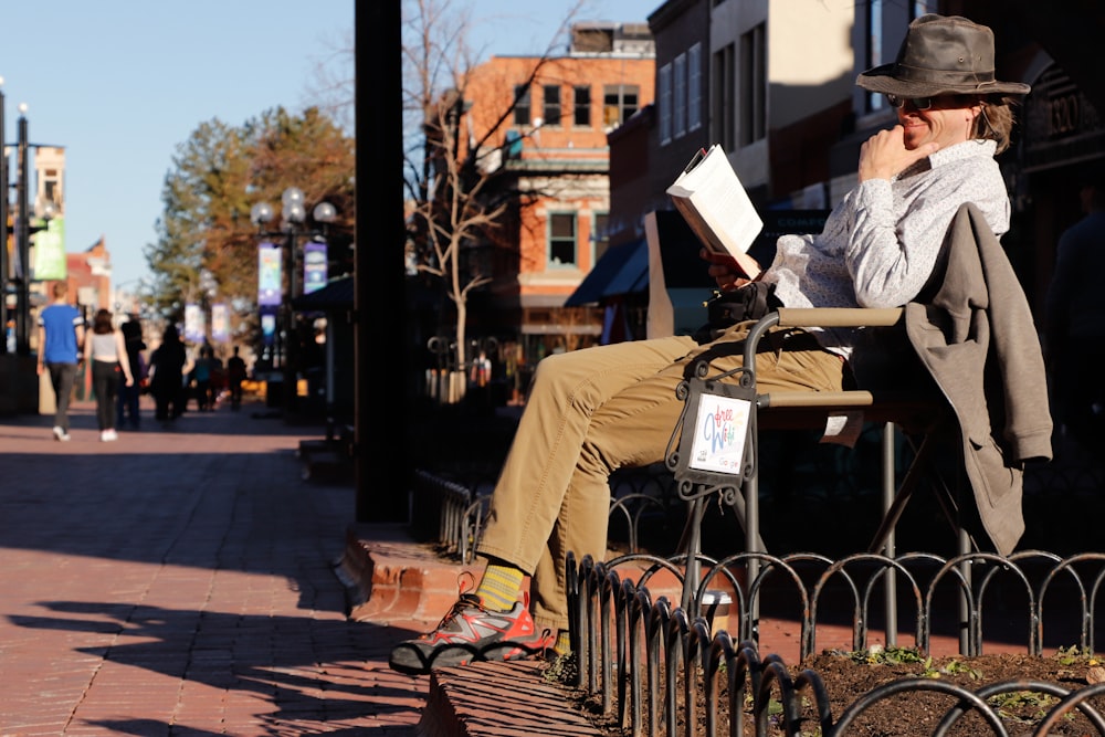
[[297, 187], [288, 187], [281, 196], [281, 227], [277, 231], [265, 230], [265, 227], [273, 220], [273, 209], [267, 202], [257, 202], [250, 209], [250, 221], [257, 228], [257, 234], [262, 238], [283, 238], [282, 248], [283, 260], [285, 262], [285, 275], [282, 275], [283, 297], [281, 299], [281, 325], [276, 334], [277, 356], [280, 356], [280, 367], [283, 373], [283, 400], [284, 410], [291, 411], [293, 398], [295, 397], [295, 372], [296, 360], [293, 359], [294, 341], [292, 339], [295, 326], [295, 313], [292, 309], [292, 301], [302, 291], [297, 287], [296, 274], [299, 265], [298, 239], [306, 235], [309, 239], [318, 240], [324, 238], [325, 228], [337, 217], [337, 211], [329, 202], [319, 202], [312, 211], [312, 219], [316, 223], [316, 229], [306, 227], [307, 210], [304, 206], [303, 190]]

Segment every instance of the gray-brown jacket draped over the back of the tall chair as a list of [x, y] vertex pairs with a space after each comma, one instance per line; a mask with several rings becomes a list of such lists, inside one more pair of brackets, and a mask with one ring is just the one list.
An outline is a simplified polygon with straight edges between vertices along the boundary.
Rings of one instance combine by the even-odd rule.
[[905, 327], [960, 430], [979, 522], [1001, 555], [1024, 533], [1024, 463], [1052, 456], [1040, 338], [1001, 243], [974, 204], [948, 231], [944, 280]]

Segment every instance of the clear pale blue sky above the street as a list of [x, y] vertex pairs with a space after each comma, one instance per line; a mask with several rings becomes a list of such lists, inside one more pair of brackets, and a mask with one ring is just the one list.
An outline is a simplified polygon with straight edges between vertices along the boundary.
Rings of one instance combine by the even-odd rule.
[[[484, 56], [540, 53], [576, 4], [452, 1], [471, 7]], [[585, 0], [577, 18], [644, 21], [660, 4]], [[113, 287], [134, 291], [149, 274], [143, 252], [157, 240], [178, 147], [213, 119], [240, 126], [277, 106], [317, 103], [318, 69], [340, 73], [335, 53], [351, 48], [354, 15], [355, 0], [0, 2], [10, 182], [25, 104], [30, 144], [65, 148], [66, 251], [103, 236]]]

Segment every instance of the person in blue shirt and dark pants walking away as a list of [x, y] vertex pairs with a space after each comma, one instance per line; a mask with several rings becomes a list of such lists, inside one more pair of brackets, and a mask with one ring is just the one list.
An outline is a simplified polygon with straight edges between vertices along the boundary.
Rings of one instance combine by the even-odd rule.
[[54, 388], [54, 438], [66, 441], [69, 403], [81, 362], [80, 346], [84, 344], [84, 316], [69, 304], [69, 285], [54, 282], [54, 301], [39, 313], [38, 372], [50, 371]]

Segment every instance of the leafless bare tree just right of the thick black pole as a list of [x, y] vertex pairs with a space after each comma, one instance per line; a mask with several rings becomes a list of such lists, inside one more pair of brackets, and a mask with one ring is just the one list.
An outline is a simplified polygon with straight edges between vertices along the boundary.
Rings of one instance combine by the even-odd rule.
[[[545, 51], [535, 54], [528, 86], [567, 38], [586, 2], [577, 2]], [[512, 206], [534, 197], [505, 187], [501, 146], [492, 136], [511, 119], [518, 99], [484, 119], [482, 130], [464, 127], [469, 86], [477, 56], [469, 44], [471, 9], [454, 9], [451, 0], [409, 0], [403, 17], [403, 95], [408, 197], [409, 267], [440, 281], [455, 309], [455, 365], [467, 356], [467, 302], [491, 281], [490, 269], [466, 259], [475, 246], [494, 242]], [[491, 101], [480, 101], [486, 106]]]

